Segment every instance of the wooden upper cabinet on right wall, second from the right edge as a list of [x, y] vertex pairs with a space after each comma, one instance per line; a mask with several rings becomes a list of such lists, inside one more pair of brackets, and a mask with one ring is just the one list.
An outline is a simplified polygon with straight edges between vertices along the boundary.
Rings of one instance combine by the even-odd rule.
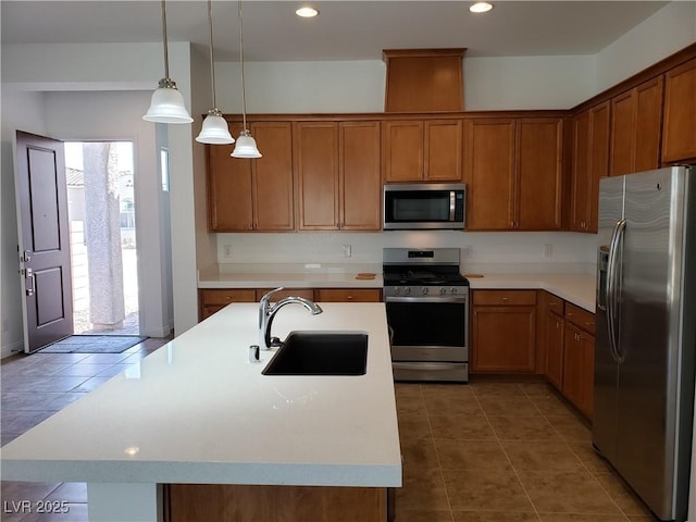
[[660, 165], [662, 88], [658, 76], [611, 100], [610, 176]]

